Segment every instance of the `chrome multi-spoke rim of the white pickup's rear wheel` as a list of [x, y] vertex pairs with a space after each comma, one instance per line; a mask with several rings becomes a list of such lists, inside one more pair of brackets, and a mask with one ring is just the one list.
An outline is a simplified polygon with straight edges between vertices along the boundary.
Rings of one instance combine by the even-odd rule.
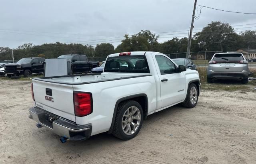
[[141, 114], [137, 107], [129, 107], [126, 109], [122, 119], [122, 129], [125, 134], [131, 135], [138, 130], [140, 126]]

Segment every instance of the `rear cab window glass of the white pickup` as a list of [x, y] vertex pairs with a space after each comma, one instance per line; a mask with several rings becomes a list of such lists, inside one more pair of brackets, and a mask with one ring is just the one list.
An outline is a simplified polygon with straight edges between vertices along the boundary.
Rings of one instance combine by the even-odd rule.
[[127, 55], [108, 57], [104, 72], [150, 73], [144, 55]]

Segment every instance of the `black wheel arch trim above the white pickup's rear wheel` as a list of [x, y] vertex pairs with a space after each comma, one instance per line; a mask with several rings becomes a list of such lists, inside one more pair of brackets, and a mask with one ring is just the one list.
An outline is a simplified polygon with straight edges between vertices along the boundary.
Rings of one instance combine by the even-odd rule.
[[118, 105], [120, 103], [122, 103], [123, 101], [127, 101], [127, 100], [134, 100], [134, 101], [138, 102], [140, 104], [140, 106], [142, 107], [142, 109], [143, 109], [143, 113], [144, 113], [144, 116], [143, 116], [144, 118], [143, 119], [146, 119], [146, 117], [148, 115], [148, 96], [146, 94], [141, 93], [141, 94], [130, 95], [130, 96], [118, 99], [118, 101], [116, 101], [111, 126], [110, 126], [110, 129], [108, 131], [109, 134], [112, 133], [113, 128], [114, 128], [114, 123], [115, 123], [115, 119], [116, 119], [116, 113], [117, 113]]

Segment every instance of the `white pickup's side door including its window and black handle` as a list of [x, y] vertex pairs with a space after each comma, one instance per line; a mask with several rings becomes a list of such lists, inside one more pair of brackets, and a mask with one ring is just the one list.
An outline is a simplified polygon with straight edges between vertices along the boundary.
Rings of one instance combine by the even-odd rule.
[[165, 55], [153, 53], [160, 79], [161, 108], [179, 103], [185, 98], [185, 75], [176, 72], [177, 66]]

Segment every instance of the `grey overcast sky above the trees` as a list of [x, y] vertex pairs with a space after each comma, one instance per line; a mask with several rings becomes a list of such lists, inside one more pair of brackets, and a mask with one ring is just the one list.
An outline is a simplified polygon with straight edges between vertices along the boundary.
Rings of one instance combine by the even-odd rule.
[[[256, 0], [198, 0], [197, 4], [222, 10], [256, 12]], [[159, 41], [162, 42], [175, 36], [188, 36], [186, 31], [173, 31], [188, 30], [193, 5], [194, 0], [1, 0], [0, 47], [17, 48], [28, 42], [40, 45], [56, 41], [93, 46], [109, 42], [116, 46], [122, 39], [116, 37], [136, 34], [142, 29], [156, 34], [172, 32], [160, 33]], [[200, 18], [194, 21], [194, 29], [202, 29], [218, 20], [232, 26], [254, 24], [256, 15], [202, 8]], [[256, 24], [234, 28], [240, 28], [236, 29], [238, 32], [256, 30], [252, 26]]]

